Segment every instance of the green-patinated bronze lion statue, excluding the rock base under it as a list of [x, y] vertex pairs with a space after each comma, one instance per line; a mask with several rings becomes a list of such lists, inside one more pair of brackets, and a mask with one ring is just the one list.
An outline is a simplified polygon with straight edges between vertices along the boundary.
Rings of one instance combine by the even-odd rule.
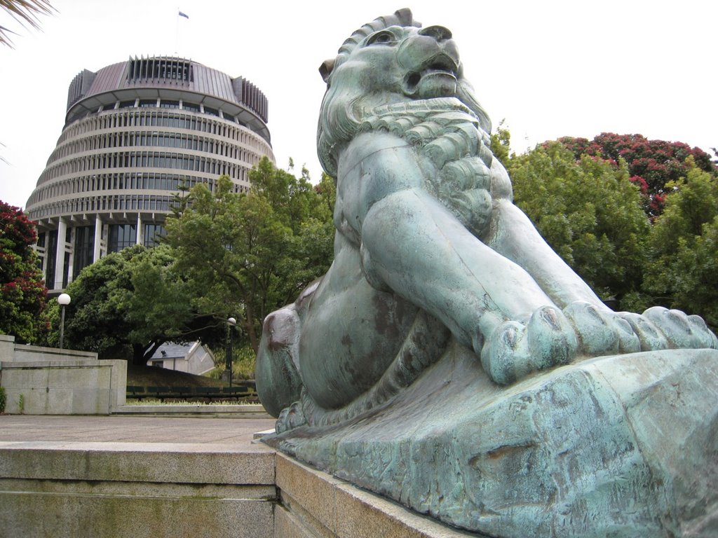
[[449, 343], [497, 384], [577, 357], [718, 348], [698, 316], [611, 311], [551, 250], [513, 204], [448, 29], [396, 11], [320, 72], [335, 260], [264, 321], [256, 379], [278, 432], [381, 405]]

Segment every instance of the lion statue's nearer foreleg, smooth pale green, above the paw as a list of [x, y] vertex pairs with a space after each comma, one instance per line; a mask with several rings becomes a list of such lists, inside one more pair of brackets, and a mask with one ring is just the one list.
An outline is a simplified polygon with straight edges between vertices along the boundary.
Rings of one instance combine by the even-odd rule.
[[503, 321], [528, 321], [552, 304], [525, 270], [480, 242], [421, 189], [393, 192], [373, 204], [361, 242], [370, 283], [432, 313], [476, 351]]

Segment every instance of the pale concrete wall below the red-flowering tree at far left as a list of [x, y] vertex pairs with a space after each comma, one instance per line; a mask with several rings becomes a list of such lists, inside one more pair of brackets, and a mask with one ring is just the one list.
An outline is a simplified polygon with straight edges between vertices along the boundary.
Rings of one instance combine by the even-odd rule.
[[0, 335], [0, 386], [11, 414], [108, 415], [125, 404], [127, 362]]

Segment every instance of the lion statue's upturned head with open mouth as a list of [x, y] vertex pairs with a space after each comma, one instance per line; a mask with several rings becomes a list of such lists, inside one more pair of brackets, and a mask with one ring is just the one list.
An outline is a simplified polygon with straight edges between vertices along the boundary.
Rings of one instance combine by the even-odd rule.
[[327, 174], [337, 174], [337, 155], [378, 107], [433, 100], [457, 100], [476, 115], [480, 127], [491, 121], [464, 78], [451, 32], [422, 28], [409, 9], [381, 16], [356, 30], [337, 57], [322, 63], [327, 82], [317, 129], [317, 151]]

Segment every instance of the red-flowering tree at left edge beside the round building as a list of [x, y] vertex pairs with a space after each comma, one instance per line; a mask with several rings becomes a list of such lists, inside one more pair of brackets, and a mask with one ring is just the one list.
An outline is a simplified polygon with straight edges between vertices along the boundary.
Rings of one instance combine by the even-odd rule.
[[19, 207], [0, 201], [0, 333], [35, 343], [47, 332], [47, 288], [32, 245], [37, 234]]

